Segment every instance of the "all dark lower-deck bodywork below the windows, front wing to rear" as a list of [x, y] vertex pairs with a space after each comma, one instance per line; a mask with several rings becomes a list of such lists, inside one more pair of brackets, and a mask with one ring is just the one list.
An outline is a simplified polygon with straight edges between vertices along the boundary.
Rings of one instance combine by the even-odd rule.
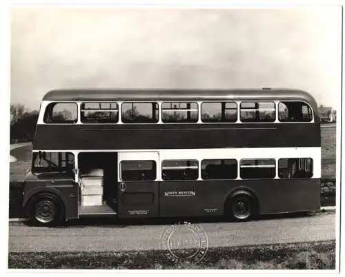
[[[57, 174], [44, 175], [37, 180], [26, 181], [23, 206], [34, 194], [51, 192], [63, 201], [66, 220], [78, 218], [77, 183], [72, 178], [59, 178]], [[303, 212], [320, 207], [318, 178], [152, 181], [126, 182], [126, 191], [119, 190], [117, 214], [119, 218], [222, 216], [226, 200], [238, 190], [250, 192], [257, 198], [259, 214]]]

